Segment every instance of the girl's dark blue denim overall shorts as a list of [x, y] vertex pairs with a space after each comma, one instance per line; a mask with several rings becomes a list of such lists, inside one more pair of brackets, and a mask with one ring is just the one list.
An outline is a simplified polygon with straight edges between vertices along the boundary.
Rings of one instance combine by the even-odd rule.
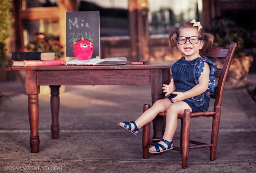
[[[196, 58], [189, 61], [182, 57], [173, 64], [171, 72], [173, 74], [173, 82], [176, 86], [176, 91], [185, 92], [196, 85], [195, 67], [199, 59], [200, 58]], [[171, 100], [171, 98], [175, 96], [176, 94], [170, 94], [167, 98]], [[210, 99], [210, 94], [202, 93], [182, 101], [186, 102], [191, 107], [192, 112], [205, 112], [209, 108]]]

